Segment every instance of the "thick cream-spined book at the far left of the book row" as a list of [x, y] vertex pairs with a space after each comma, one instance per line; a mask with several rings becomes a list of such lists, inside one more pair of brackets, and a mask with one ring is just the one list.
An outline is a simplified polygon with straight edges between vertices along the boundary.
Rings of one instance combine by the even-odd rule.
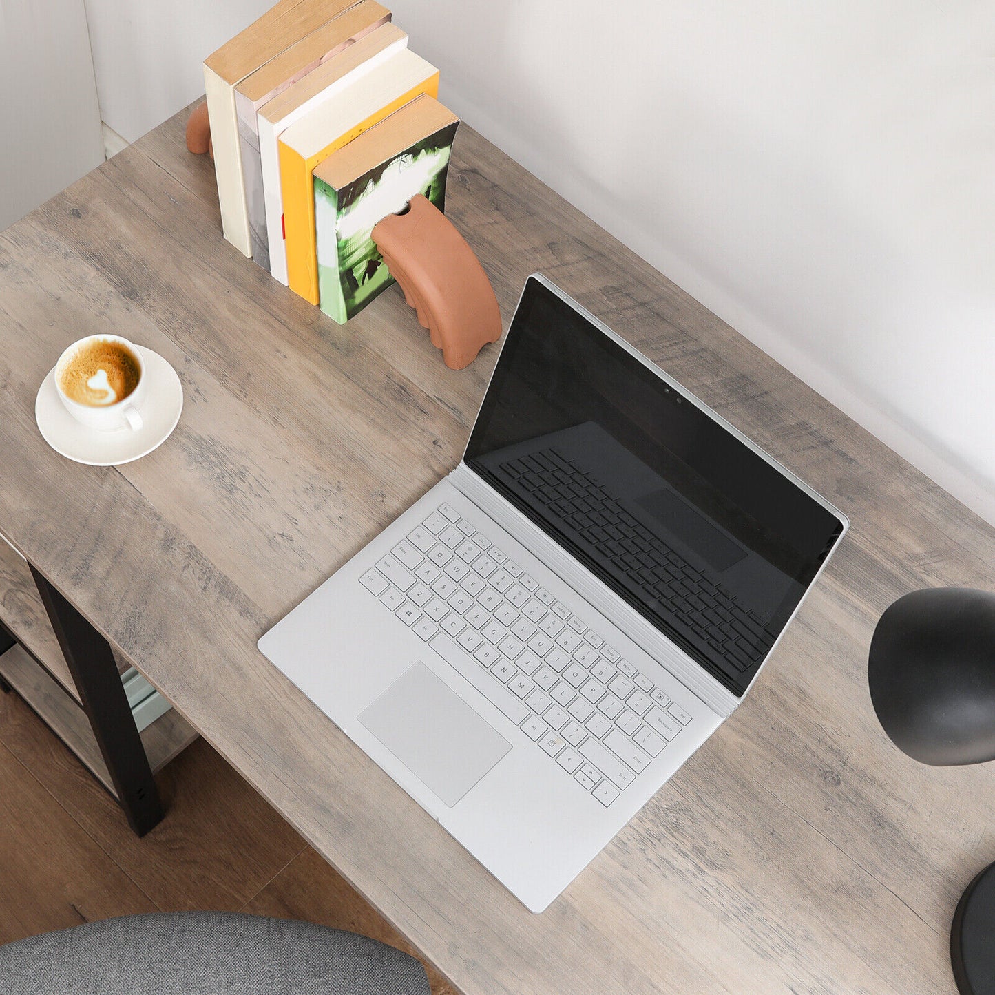
[[244, 256], [252, 255], [249, 212], [242, 181], [242, 156], [235, 88], [260, 66], [280, 55], [356, 0], [280, 0], [259, 20], [204, 62], [204, 92], [211, 122], [214, 172], [225, 238]]

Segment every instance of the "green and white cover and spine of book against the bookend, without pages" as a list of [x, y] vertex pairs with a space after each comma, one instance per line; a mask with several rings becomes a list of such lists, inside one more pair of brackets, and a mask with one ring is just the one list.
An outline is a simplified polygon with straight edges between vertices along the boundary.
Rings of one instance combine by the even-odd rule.
[[[458, 124], [454, 120], [433, 131], [337, 189], [315, 170], [319, 306], [340, 324], [394, 282], [373, 243], [377, 222], [399, 214], [418, 193], [445, 211], [446, 174]], [[349, 145], [341, 151], [346, 150]], [[321, 171], [328, 176], [334, 169]]]

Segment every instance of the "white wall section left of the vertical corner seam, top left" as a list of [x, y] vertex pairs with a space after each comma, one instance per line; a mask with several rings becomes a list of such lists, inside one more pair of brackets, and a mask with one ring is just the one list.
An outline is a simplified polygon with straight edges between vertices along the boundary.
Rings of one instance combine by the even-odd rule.
[[0, 229], [103, 161], [83, 0], [0, 0]]

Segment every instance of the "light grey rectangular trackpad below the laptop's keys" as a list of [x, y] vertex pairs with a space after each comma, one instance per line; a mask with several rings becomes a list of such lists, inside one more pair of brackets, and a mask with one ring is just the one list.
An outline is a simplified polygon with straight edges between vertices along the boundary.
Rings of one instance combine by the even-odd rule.
[[511, 748], [421, 661], [359, 721], [450, 808]]

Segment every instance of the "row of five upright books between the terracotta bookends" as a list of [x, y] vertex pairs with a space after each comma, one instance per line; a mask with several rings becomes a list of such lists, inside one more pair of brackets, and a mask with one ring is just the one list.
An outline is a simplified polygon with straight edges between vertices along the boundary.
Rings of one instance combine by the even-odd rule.
[[373, 226], [445, 209], [459, 118], [376, 0], [281, 0], [204, 63], [225, 238], [344, 322], [392, 278]]

